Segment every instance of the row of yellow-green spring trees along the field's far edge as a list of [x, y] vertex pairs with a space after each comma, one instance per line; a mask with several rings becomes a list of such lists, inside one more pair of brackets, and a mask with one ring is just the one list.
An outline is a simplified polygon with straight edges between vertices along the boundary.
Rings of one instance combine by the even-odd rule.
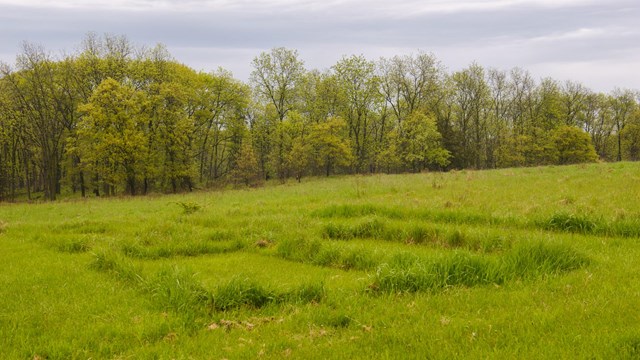
[[633, 90], [450, 73], [423, 52], [318, 71], [275, 48], [251, 65], [243, 83], [125, 36], [91, 33], [59, 57], [25, 43], [0, 64], [0, 200], [640, 157]]

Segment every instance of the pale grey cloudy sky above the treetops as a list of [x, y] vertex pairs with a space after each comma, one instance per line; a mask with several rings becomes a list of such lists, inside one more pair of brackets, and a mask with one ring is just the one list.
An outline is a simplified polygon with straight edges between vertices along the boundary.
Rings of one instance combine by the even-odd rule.
[[163, 43], [180, 62], [241, 80], [253, 57], [284, 46], [320, 70], [343, 55], [421, 50], [450, 71], [477, 61], [640, 89], [639, 0], [0, 0], [1, 61], [23, 41], [74, 52], [90, 31]]

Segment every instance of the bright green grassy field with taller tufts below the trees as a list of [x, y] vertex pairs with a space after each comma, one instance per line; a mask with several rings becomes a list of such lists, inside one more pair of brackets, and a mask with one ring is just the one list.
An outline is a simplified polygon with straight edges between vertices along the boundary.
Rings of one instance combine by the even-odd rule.
[[638, 358], [640, 163], [0, 205], [0, 358]]

